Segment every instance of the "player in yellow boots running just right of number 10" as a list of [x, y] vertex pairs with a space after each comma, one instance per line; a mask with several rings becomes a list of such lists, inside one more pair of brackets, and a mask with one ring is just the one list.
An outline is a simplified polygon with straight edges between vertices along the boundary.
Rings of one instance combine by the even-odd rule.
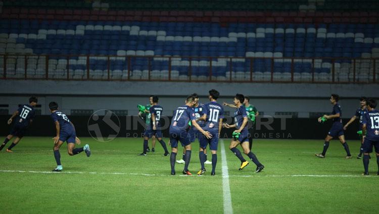
[[244, 100], [244, 95], [235, 95], [233, 102], [237, 109], [234, 112], [234, 124], [229, 125], [227, 123], [224, 123], [223, 127], [228, 129], [235, 127], [237, 129], [233, 132], [236, 134], [236, 136], [232, 138], [229, 149], [241, 160], [241, 166], [239, 170], [242, 170], [247, 165], [249, 165], [249, 162], [245, 160], [240, 150], [236, 148], [239, 144], [241, 144], [244, 153], [257, 165], [255, 172], [259, 173], [263, 170], [264, 165], [259, 162], [257, 156], [255, 156], [255, 154], [249, 149], [248, 129], [246, 126], [248, 123], [248, 115], [246, 113], [245, 106], [242, 105], [244, 103]]

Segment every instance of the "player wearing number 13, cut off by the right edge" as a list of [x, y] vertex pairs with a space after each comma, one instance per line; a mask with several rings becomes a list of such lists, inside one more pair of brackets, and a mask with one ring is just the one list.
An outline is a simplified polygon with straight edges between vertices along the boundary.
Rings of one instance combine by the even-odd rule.
[[367, 99], [368, 112], [363, 116], [362, 134], [363, 134], [363, 166], [364, 174], [368, 176], [368, 162], [370, 161], [370, 153], [372, 146], [375, 147], [377, 174], [379, 176], [379, 111], [375, 110], [376, 101]]

